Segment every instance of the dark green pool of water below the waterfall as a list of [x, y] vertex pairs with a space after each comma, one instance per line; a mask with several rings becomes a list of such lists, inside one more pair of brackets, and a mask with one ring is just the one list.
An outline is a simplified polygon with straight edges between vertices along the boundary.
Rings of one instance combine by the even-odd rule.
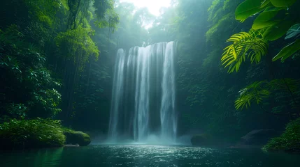
[[90, 145], [0, 152], [0, 166], [300, 166], [300, 156], [250, 149], [208, 149], [168, 145]]

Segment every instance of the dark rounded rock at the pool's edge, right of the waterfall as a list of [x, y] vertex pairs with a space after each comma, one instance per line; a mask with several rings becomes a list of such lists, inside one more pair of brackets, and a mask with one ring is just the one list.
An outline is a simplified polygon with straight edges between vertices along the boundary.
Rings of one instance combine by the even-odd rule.
[[278, 133], [274, 129], [257, 129], [252, 130], [245, 136], [241, 137], [241, 141], [237, 145], [265, 145], [268, 141], [278, 136]]

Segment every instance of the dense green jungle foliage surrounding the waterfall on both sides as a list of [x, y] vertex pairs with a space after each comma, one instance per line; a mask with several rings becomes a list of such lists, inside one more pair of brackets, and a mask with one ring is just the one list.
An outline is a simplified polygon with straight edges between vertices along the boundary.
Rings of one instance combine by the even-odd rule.
[[[117, 49], [174, 40], [178, 136], [234, 142], [252, 129], [287, 125], [264, 149], [289, 150], [293, 143], [283, 141], [300, 134], [299, 7], [297, 0], [173, 0], [156, 17], [113, 0], [3, 0], [0, 138], [47, 121], [106, 134]], [[64, 143], [56, 135], [50, 145]]]

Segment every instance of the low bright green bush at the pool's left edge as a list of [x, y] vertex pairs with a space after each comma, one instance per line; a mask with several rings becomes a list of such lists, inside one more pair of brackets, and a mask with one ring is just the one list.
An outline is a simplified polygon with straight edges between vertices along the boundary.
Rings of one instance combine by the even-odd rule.
[[0, 149], [48, 148], [64, 145], [60, 120], [10, 120], [0, 124]]

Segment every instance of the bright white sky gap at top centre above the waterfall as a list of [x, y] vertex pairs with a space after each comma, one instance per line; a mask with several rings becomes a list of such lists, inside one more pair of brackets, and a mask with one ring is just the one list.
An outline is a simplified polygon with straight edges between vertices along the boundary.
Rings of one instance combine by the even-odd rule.
[[153, 15], [159, 15], [159, 9], [162, 7], [169, 7], [171, 0], [120, 0], [120, 2], [130, 2], [138, 8], [147, 7]]

